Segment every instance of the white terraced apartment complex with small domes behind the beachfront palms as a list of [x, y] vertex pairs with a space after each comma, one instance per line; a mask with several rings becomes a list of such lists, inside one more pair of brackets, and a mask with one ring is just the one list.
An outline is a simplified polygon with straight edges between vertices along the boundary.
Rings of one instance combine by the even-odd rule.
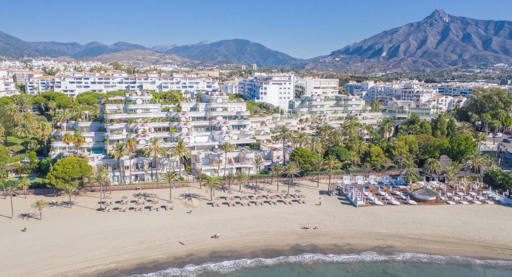
[[[119, 182], [121, 178], [127, 181], [130, 176], [132, 181], [156, 180], [165, 172], [180, 171], [180, 168], [181, 174], [186, 175], [185, 164], [196, 168], [194, 159], [180, 167], [175, 157], [159, 157], [155, 164], [152, 157], [138, 153], [132, 160], [123, 157], [119, 168], [118, 160], [108, 153], [116, 143], [125, 143], [129, 139], [136, 141], [138, 150], [147, 148], [152, 137], [160, 138], [166, 151], [183, 140], [193, 156], [198, 151], [215, 151], [224, 142], [235, 146], [251, 144], [255, 142], [254, 129], [248, 115], [245, 102], [229, 101], [225, 93], [203, 95], [201, 102], [190, 100], [172, 105], [157, 103], [145, 91], [131, 92], [101, 104], [103, 123], [89, 122], [87, 117], [81, 122], [61, 123], [61, 129], [52, 134], [50, 157], [69, 155], [70, 146], [62, 142], [62, 135], [80, 131], [86, 137], [86, 144], [79, 147], [79, 154], [85, 156], [95, 169], [106, 167], [113, 182]], [[238, 170], [239, 167], [231, 168]]]

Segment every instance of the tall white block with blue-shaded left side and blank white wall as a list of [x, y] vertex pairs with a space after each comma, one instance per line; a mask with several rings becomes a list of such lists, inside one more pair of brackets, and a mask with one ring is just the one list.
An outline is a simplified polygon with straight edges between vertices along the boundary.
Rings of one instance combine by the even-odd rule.
[[248, 100], [266, 102], [288, 111], [288, 103], [295, 94], [295, 75], [263, 75], [241, 79], [238, 91]]

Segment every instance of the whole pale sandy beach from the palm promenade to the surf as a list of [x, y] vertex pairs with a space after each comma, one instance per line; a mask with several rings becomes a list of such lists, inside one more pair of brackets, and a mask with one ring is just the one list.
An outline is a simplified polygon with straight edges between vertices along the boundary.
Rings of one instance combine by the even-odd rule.
[[[12, 220], [9, 198], [0, 199], [2, 275], [126, 275], [189, 263], [369, 250], [512, 260], [512, 236], [507, 231], [512, 227], [508, 220], [512, 209], [508, 206], [356, 208], [337, 196], [320, 194], [327, 188], [325, 183], [320, 189], [314, 181], [297, 184], [291, 192], [300, 189], [306, 204], [212, 207], [209, 193], [196, 184], [173, 190], [174, 211], [98, 212], [99, 194], [87, 193], [77, 197], [72, 209], [48, 207], [42, 220], [30, 205], [53, 197], [15, 197]], [[280, 191], [286, 188], [281, 186]], [[264, 187], [276, 189], [275, 182]], [[155, 194], [164, 203], [169, 191], [113, 192], [112, 200], [124, 195], [135, 200], [137, 193]], [[230, 196], [234, 195], [240, 194], [235, 191]], [[55, 200], [67, 201], [67, 197]], [[304, 229], [308, 223], [322, 229]], [[27, 232], [22, 232], [24, 227]], [[220, 239], [210, 238], [216, 233]]]

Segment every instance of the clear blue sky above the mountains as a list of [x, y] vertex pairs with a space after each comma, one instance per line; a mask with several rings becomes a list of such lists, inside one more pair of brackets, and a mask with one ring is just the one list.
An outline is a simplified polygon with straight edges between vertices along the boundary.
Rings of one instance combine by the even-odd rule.
[[298, 58], [329, 54], [435, 9], [511, 20], [509, 1], [154, 1], [0, 0], [0, 31], [27, 41], [151, 47], [243, 38]]

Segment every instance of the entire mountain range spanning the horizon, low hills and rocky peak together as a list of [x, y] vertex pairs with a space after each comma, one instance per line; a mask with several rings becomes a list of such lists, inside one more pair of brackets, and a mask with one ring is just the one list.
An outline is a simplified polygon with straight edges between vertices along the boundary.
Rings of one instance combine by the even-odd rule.
[[309, 60], [291, 57], [245, 39], [146, 48], [116, 42], [28, 42], [0, 32], [0, 56], [69, 57], [80, 60], [252, 64], [303, 70], [370, 73], [426, 71], [446, 66], [512, 64], [512, 21], [479, 20], [435, 10], [424, 19], [393, 28]]

